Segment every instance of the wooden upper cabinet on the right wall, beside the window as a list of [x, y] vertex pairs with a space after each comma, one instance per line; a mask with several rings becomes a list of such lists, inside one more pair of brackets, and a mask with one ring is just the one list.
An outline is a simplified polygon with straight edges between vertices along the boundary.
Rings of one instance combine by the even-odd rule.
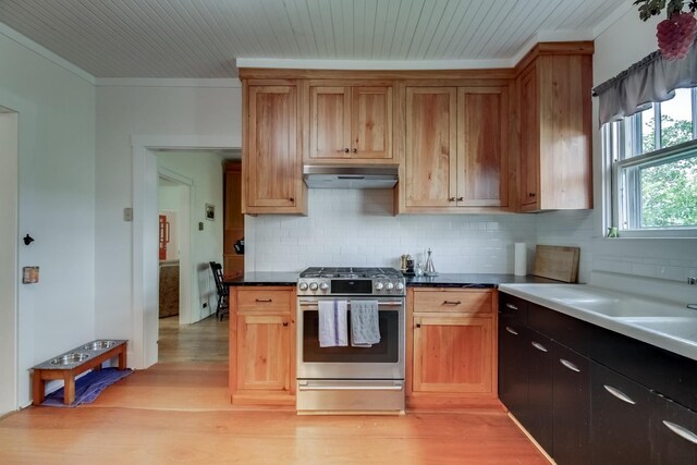
[[538, 45], [517, 77], [522, 211], [592, 208], [592, 45]]

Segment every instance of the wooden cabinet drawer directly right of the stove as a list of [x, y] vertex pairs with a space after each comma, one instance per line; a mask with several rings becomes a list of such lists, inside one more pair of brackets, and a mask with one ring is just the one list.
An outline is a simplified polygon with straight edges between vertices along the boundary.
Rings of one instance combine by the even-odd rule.
[[414, 291], [414, 311], [453, 311], [460, 314], [491, 314], [492, 292], [486, 291]]

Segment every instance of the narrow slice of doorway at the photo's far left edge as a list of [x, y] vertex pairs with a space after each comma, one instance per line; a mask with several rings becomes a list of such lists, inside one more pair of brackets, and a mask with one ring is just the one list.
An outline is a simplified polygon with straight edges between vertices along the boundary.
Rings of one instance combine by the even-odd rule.
[[0, 415], [19, 406], [19, 113], [0, 107]]

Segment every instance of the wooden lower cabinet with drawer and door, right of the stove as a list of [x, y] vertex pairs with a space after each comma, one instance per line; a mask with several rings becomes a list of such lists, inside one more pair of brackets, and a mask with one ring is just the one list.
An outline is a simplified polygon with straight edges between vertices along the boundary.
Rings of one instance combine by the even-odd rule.
[[497, 405], [496, 294], [409, 289], [407, 406]]

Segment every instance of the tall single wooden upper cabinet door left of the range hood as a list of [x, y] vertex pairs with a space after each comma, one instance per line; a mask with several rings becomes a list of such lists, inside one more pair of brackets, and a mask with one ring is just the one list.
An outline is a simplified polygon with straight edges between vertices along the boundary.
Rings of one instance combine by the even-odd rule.
[[245, 212], [293, 212], [302, 184], [296, 86], [248, 87], [248, 172]]

